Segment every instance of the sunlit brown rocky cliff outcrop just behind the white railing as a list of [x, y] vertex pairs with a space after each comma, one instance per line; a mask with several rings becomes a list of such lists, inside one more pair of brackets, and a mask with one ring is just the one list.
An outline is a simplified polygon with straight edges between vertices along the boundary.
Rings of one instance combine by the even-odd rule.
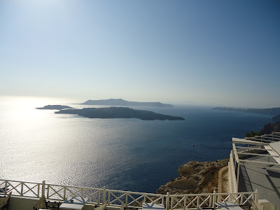
[[213, 193], [218, 189], [218, 171], [227, 166], [228, 161], [228, 159], [214, 162], [190, 161], [179, 167], [179, 177], [160, 186], [157, 193]]

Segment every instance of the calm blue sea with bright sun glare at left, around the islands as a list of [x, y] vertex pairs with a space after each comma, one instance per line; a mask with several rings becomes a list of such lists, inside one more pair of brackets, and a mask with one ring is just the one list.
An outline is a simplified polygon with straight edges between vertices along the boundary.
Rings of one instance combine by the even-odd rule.
[[271, 118], [202, 106], [134, 107], [185, 121], [88, 119], [34, 109], [94, 107], [71, 103], [0, 97], [0, 179], [155, 193], [190, 160], [228, 158], [232, 137], [260, 130]]

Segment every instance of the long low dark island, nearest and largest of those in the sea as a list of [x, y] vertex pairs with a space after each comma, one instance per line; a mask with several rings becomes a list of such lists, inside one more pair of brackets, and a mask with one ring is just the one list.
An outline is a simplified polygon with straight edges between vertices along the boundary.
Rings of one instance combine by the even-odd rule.
[[137, 118], [140, 120], [185, 120], [181, 117], [166, 116], [153, 111], [130, 109], [127, 107], [62, 109], [59, 114], [76, 114], [85, 118]]

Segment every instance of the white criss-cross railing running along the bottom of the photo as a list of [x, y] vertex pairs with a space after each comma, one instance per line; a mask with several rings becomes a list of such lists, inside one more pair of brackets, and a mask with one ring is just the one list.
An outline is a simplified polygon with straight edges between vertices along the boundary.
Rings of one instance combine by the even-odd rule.
[[153, 193], [138, 193], [121, 190], [108, 190], [100, 188], [82, 188], [77, 186], [62, 186], [42, 183], [11, 181], [0, 179], [0, 194], [8, 194], [23, 197], [45, 196], [47, 200], [66, 200], [66, 197], [86, 197], [92, 204], [106, 204], [107, 206], [142, 207], [144, 202], [164, 204], [169, 209], [200, 209], [200, 207], [214, 207], [215, 202], [231, 201], [237, 204], [245, 204], [255, 200], [258, 202], [257, 192], [246, 193], [206, 193], [188, 195], [161, 195]]

